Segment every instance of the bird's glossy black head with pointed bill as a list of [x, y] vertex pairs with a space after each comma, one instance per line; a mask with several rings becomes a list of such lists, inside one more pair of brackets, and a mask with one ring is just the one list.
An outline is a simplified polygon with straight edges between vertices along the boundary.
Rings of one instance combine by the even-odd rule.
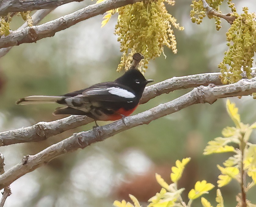
[[146, 85], [154, 80], [146, 80], [144, 75], [134, 67], [126, 71], [120, 78], [117, 78], [114, 82], [131, 88], [137, 95], [141, 96]]

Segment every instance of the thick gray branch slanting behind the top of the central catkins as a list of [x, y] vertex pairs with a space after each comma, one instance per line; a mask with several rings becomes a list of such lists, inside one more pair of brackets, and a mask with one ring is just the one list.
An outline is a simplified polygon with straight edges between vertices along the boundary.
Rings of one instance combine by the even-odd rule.
[[89, 5], [39, 26], [26, 27], [11, 32], [8, 36], [0, 38], [0, 48], [16, 46], [22, 43], [32, 43], [45, 37], [52, 37], [56, 32], [67, 29], [85, 19], [140, 1], [142, 0], [106, 0], [99, 4]]

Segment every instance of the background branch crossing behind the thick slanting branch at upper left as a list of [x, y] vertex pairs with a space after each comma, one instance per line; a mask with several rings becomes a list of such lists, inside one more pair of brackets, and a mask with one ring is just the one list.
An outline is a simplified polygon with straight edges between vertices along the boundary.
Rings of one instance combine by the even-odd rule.
[[[42, 19], [45, 18], [53, 9], [42, 9], [39, 11], [36, 11], [32, 16], [32, 22], [33, 25], [37, 25]], [[27, 27], [27, 22], [25, 22], [22, 26], [19, 27], [19, 29], [23, 29]], [[18, 30], [19, 30], [18, 29]], [[0, 57], [3, 57], [6, 53], [8, 53], [12, 47], [2, 48], [0, 49]]]

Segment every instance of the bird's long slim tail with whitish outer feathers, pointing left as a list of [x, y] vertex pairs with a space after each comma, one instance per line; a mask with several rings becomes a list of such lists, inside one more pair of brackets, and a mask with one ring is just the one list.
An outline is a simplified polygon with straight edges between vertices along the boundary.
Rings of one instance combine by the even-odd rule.
[[63, 98], [67, 98], [65, 96], [43, 96], [43, 95], [33, 95], [27, 96], [25, 98], [21, 98], [16, 101], [16, 104], [26, 105], [26, 104], [38, 104], [38, 103], [56, 103]]

